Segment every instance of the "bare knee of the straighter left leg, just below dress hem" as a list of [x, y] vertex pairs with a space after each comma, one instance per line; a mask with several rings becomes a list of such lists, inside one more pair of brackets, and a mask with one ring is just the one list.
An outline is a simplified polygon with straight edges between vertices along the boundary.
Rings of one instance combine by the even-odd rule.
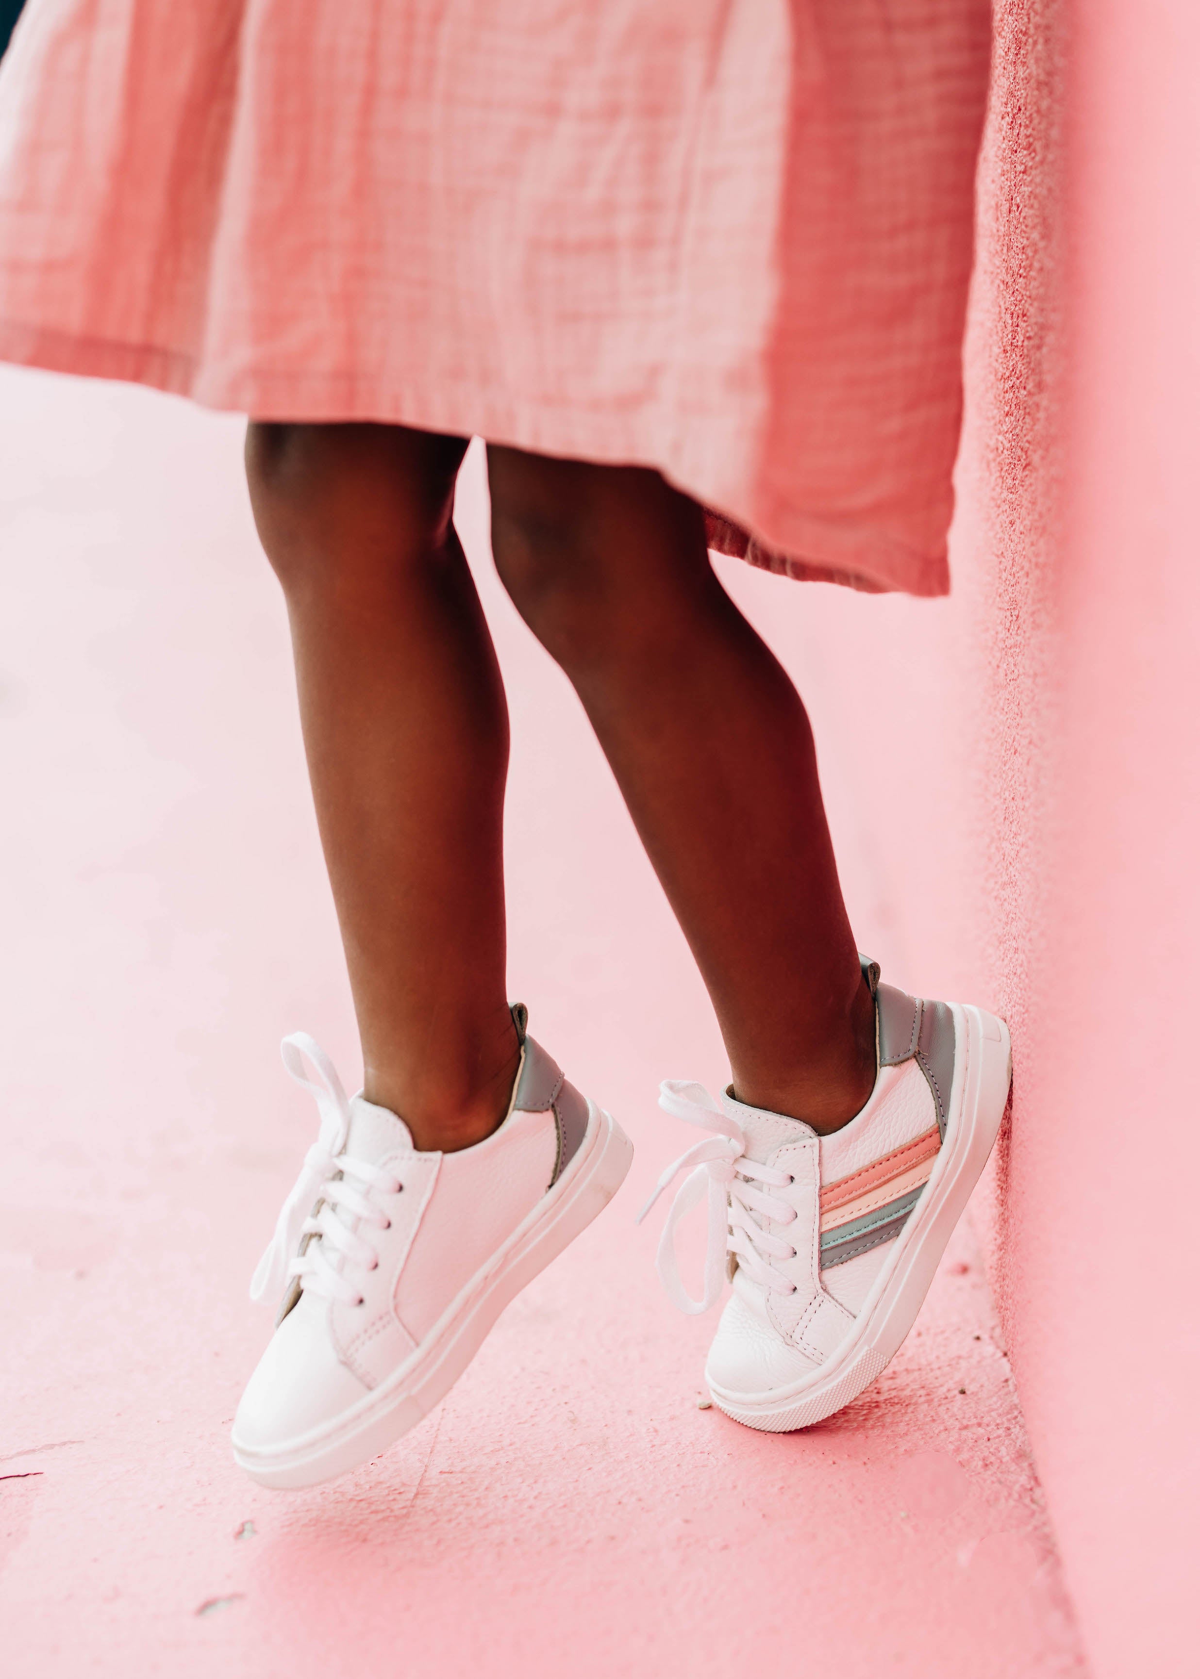
[[395, 571], [445, 539], [466, 443], [382, 425], [252, 420], [250, 507], [284, 589]]

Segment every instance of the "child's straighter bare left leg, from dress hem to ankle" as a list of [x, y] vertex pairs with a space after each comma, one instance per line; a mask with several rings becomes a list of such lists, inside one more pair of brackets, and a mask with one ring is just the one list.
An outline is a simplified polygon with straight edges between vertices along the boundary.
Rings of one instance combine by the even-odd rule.
[[462, 438], [250, 425], [247, 473], [284, 586], [321, 841], [371, 1101], [422, 1148], [501, 1120], [508, 712], [450, 522]]

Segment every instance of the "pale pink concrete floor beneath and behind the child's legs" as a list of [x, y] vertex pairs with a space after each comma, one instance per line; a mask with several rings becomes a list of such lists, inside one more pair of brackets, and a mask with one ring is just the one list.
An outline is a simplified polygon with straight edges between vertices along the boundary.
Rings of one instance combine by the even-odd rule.
[[[459, 522], [513, 705], [513, 991], [639, 1155], [383, 1461], [304, 1494], [235, 1471], [269, 1330], [247, 1281], [314, 1135], [277, 1038], [306, 1026], [356, 1073], [239, 448], [234, 420], [0, 373], [7, 1672], [1082, 1672], [968, 1231], [837, 1419], [771, 1437], [697, 1409], [711, 1320], [667, 1305], [632, 1217], [692, 1140], [657, 1080], [719, 1080], [719, 1041], [580, 709], [491, 579], [477, 462]], [[805, 589], [729, 576], [812, 645]], [[820, 660], [797, 675], [820, 719]], [[889, 955], [879, 836], [825, 767]]]

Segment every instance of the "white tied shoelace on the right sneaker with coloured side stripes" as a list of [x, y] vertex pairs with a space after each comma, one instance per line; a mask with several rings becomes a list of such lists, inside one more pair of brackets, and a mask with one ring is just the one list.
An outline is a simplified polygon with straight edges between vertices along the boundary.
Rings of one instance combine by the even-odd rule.
[[[667, 1222], [659, 1239], [659, 1276], [681, 1311], [708, 1311], [721, 1298], [726, 1274], [726, 1254], [736, 1254], [738, 1264], [763, 1288], [793, 1295], [795, 1283], [778, 1271], [771, 1259], [793, 1259], [795, 1247], [773, 1231], [763, 1229], [758, 1214], [773, 1224], [792, 1224], [795, 1207], [778, 1195], [770, 1195], [765, 1184], [782, 1189], [792, 1182], [790, 1172], [773, 1165], [760, 1165], [746, 1159], [746, 1138], [736, 1120], [713, 1101], [703, 1085], [664, 1078], [659, 1088], [659, 1106], [677, 1120], [699, 1125], [718, 1137], [706, 1137], [687, 1148], [667, 1167], [659, 1185], [637, 1216], [640, 1224], [654, 1202], [669, 1189], [674, 1179], [692, 1167], [671, 1202]], [[676, 1227], [679, 1221], [704, 1197], [708, 1190], [708, 1249], [704, 1253], [704, 1293], [692, 1300], [679, 1276], [676, 1254]]]

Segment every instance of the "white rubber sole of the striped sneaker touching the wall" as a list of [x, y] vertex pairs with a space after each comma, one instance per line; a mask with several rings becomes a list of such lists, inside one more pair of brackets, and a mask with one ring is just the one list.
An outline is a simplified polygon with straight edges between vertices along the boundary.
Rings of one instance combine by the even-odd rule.
[[1008, 1103], [1012, 1046], [1008, 1028], [971, 1004], [950, 1004], [955, 1016], [955, 1083], [946, 1140], [924, 1194], [896, 1237], [845, 1340], [825, 1363], [765, 1394], [734, 1394], [709, 1380], [713, 1404], [751, 1429], [783, 1434], [832, 1417], [879, 1377], [899, 1352], [929, 1293]]

